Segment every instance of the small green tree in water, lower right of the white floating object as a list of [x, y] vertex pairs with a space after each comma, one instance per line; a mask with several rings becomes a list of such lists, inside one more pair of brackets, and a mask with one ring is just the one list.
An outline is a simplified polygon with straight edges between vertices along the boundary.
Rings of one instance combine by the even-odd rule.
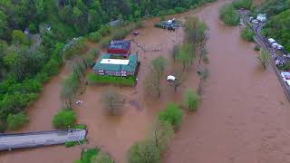
[[183, 103], [190, 111], [198, 110], [199, 105], [199, 96], [198, 93], [188, 89], [184, 93]]

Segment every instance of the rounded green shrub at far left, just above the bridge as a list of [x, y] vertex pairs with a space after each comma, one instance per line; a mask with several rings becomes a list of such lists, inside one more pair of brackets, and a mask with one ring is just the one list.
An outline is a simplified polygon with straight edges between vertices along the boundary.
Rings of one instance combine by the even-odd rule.
[[15, 130], [22, 128], [28, 122], [28, 117], [24, 112], [9, 114], [7, 117], [7, 129]]

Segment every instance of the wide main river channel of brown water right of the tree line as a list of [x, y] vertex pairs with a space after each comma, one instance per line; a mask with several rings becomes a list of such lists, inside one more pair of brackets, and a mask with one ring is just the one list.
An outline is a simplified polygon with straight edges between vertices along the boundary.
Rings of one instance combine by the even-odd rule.
[[218, 6], [198, 13], [210, 27], [210, 78], [197, 113], [188, 114], [163, 160], [167, 163], [288, 163], [290, 105], [269, 67], [238, 27], [218, 20]]

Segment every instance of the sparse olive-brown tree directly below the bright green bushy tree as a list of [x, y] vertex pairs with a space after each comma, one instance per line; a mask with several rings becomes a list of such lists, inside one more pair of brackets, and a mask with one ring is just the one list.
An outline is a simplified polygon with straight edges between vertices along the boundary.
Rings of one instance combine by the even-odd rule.
[[173, 136], [174, 130], [168, 121], [160, 122], [160, 120], [156, 120], [154, 122], [150, 139], [160, 150], [160, 153], [162, 153], [164, 149], [168, 147], [169, 142]]

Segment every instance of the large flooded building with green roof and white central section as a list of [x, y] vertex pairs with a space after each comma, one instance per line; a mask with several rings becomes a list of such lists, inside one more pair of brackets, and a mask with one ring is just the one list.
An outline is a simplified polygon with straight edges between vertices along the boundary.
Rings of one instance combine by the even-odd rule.
[[137, 65], [138, 55], [136, 54], [131, 54], [126, 59], [118, 59], [118, 56], [114, 54], [102, 54], [101, 59], [93, 67], [93, 71], [99, 75], [130, 76], [135, 75]]

